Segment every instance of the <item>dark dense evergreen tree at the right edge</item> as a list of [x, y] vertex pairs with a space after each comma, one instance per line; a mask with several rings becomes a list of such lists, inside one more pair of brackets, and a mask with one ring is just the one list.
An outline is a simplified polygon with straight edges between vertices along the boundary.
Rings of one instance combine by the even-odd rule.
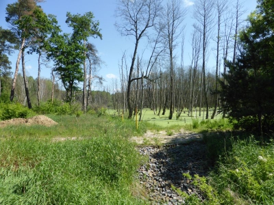
[[261, 135], [274, 128], [273, 9], [273, 1], [258, 1], [249, 26], [240, 33], [240, 55], [228, 64], [227, 85], [222, 84], [229, 116]]

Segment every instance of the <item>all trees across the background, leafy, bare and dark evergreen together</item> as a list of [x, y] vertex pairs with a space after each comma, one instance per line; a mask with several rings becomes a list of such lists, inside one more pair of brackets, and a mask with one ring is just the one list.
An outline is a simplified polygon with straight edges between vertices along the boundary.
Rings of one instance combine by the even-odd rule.
[[[92, 98], [92, 79], [103, 80], [94, 73], [101, 59], [89, 42], [89, 37], [102, 38], [99, 21], [92, 12], [68, 12], [66, 23], [73, 32], [62, 33], [55, 16], [46, 15], [38, 2], [18, 0], [6, 8], [5, 20], [12, 29], [0, 30], [1, 79], [10, 75], [8, 55], [12, 49], [19, 51], [10, 100], [21, 60], [27, 105], [32, 107], [24, 55], [38, 53], [38, 105], [41, 59], [45, 58], [53, 61], [52, 85], [56, 78], [62, 82], [62, 98], [70, 103], [78, 100], [86, 111]], [[190, 116], [194, 111], [201, 115], [205, 109], [206, 119], [221, 114], [238, 122], [255, 123], [261, 133], [271, 129], [273, 24], [269, 11], [273, 3], [258, 0], [247, 21], [242, 19], [245, 9], [240, 0], [196, 0], [192, 6], [190, 14], [179, 0], [117, 0], [115, 27], [134, 44], [132, 52], [121, 56], [120, 79], [113, 82], [112, 90], [107, 89], [112, 92], [112, 101], [107, 104], [127, 111], [128, 118], [136, 114], [136, 108], [141, 118], [143, 107], [158, 115], [169, 111], [169, 119], [174, 115], [179, 118], [184, 109]], [[187, 15], [195, 20], [188, 40], [191, 51], [185, 51]], [[147, 45], [145, 49], [140, 48], [142, 44]], [[190, 65], [184, 65], [186, 52], [190, 53]], [[215, 65], [208, 68], [212, 55]]]

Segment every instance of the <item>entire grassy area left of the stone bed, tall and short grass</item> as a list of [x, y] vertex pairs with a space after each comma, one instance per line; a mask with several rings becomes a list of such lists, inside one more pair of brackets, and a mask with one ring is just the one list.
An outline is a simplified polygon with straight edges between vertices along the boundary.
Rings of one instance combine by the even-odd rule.
[[136, 131], [131, 120], [50, 117], [59, 124], [1, 129], [0, 204], [146, 203], [132, 195], [142, 159], [127, 140], [142, 135], [145, 125]]

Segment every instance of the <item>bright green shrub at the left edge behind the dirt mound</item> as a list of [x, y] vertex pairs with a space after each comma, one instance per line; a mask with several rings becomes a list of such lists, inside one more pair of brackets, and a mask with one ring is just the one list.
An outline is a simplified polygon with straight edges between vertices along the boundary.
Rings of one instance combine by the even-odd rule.
[[35, 115], [35, 113], [23, 107], [19, 103], [5, 103], [0, 104], [0, 119], [1, 120], [10, 120], [12, 118], [28, 118]]

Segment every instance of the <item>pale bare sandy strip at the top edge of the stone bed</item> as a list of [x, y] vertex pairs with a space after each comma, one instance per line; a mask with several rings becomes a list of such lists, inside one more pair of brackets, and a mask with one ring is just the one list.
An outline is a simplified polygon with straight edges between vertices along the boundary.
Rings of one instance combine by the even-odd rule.
[[179, 133], [167, 133], [166, 131], [147, 131], [142, 137], [132, 137], [132, 141], [140, 146], [158, 146], [169, 144], [190, 143], [193, 141], [202, 141], [203, 135], [199, 133], [191, 133], [181, 129]]

